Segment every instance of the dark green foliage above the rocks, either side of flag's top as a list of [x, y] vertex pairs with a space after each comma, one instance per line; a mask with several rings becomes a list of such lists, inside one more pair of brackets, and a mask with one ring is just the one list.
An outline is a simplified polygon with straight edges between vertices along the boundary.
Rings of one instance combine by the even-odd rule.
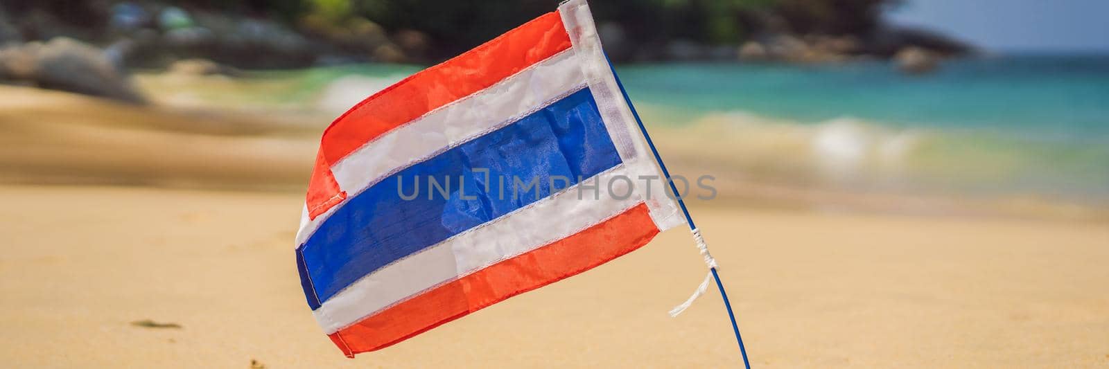
[[[387, 30], [413, 29], [431, 37], [439, 51], [457, 53], [489, 40], [539, 14], [558, 0], [307, 0], [309, 11], [365, 17]], [[763, 31], [767, 18], [796, 33], [862, 33], [876, 25], [888, 0], [594, 0], [599, 23], [614, 23], [637, 44], [688, 40], [736, 44]], [[332, 14], [335, 17], [338, 14]]]

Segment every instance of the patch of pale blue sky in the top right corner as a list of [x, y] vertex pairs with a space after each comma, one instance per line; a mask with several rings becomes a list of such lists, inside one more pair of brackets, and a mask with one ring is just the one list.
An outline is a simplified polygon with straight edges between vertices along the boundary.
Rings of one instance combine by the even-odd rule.
[[905, 0], [888, 16], [994, 51], [1109, 52], [1109, 0]]

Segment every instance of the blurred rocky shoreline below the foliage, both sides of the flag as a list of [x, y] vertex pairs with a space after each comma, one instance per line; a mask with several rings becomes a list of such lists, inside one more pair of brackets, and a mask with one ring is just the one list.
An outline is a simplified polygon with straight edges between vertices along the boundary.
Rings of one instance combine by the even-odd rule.
[[[157, 2], [68, 7], [60, 11], [34, 4], [0, 6], [0, 83], [142, 103], [143, 96], [128, 79], [134, 68], [231, 75], [240, 69], [434, 63], [441, 59], [436, 55], [449, 49], [437, 47], [425, 32], [386, 30], [360, 17], [336, 20], [311, 13], [292, 25], [273, 17], [186, 10]], [[969, 45], [922, 30], [878, 25], [855, 32], [802, 33], [782, 25], [783, 21], [761, 22], [776, 25], [761, 27], [731, 44], [685, 39], [641, 42], [618, 22], [601, 22], [600, 32], [608, 53], [618, 62], [892, 60], [907, 73], [924, 73], [943, 59], [974, 52]]]

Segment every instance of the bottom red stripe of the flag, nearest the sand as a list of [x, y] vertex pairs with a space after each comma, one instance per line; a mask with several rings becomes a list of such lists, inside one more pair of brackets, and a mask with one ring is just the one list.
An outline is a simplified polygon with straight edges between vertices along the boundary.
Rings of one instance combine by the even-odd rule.
[[640, 248], [658, 233], [647, 205], [640, 204], [572, 236], [436, 287], [328, 337], [347, 357], [378, 350], [589, 270]]

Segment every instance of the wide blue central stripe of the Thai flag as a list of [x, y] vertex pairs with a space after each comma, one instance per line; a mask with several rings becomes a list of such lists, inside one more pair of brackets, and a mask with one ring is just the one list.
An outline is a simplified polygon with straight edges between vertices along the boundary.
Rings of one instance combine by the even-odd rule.
[[[414, 164], [349, 198], [299, 247], [308, 305], [316, 309], [374, 270], [618, 164], [589, 89]], [[474, 168], [488, 168], [488, 181]], [[552, 188], [552, 176], [569, 184], [556, 180]], [[442, 196], [429, 177], [444, 187], [449, 181], [451, 193]], [[518, 189], [535, 178], [538, 189], [513, 196], [513, 178]], [[398, 189], [410, 196], [417, 185], [416, 198], [400, 197]]]

